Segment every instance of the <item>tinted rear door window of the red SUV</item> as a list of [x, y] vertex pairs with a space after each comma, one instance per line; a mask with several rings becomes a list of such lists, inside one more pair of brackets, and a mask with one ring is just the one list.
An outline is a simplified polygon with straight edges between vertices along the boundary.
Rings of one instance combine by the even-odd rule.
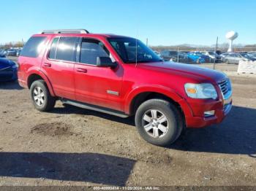
[[75, 61], [77, 37], [61, 37], [56, 52], [56, 60]]

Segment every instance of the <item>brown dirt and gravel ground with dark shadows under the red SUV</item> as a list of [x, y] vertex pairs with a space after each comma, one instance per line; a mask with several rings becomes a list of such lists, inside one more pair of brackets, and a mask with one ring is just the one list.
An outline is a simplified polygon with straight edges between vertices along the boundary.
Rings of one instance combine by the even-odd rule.
[[169, 148], [146, 143], [133, 118], [57, 102], [35, 110], [17, 82], [0, 84], [0, 185], [256, 186], [256, 77], [233, 81], [219, 125], [188, 129]]

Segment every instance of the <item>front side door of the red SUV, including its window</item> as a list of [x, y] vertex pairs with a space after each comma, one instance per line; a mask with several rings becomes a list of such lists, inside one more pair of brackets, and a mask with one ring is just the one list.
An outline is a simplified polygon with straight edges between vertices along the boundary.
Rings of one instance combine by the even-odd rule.
[[[75, 97], [77, 101], [121, 110], [121, 85], [123, 68], [98, 67], [97, 57], [110, 57], [110, 52], [97, 39], [83, 38], [78, 47], [75, 64]], [[113, 58], [112, 58], [113, 59]]]

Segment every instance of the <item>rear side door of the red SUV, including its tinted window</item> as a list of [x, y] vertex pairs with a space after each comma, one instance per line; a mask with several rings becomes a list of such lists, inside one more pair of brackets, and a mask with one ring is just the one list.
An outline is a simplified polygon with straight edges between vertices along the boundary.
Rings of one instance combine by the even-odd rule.
[[78, 37], [60, 36], [53, 39], [41, 69], [61, 98], [75, 100], [74, 66]]

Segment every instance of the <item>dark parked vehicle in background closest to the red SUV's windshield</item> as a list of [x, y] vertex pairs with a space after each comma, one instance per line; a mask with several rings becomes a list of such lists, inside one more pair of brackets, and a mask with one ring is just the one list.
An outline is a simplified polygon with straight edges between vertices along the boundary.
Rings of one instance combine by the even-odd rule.
[[173, 62], [185, 62], [187, 61], [187, 54], [184, 52], [178, 52], [176, 50], [163, 50], [161, 53], [161, 58], [165, 61]]

